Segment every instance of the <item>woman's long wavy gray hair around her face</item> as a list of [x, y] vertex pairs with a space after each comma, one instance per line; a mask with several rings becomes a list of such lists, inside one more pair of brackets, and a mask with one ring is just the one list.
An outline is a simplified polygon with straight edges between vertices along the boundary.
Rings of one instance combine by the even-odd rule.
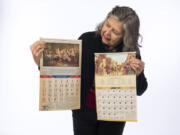
[[96, 32], [98, 35], [100, 35], [102, 27], [105, 23], [105, 21], [109, 17], [114, 17], [116, 20], [123, 22], [123, 52], [129, 52], [129, 51], [136, 51], [137, 54], [139, 54], [139, 43], [138, 39], [140, 37], [139, 34], [139, 27], [140, 27], [140, 21], [139, 17], [136, 14], [136, 12], [129, 7], [119, 7], [116, 6], [110, 11], [106, 17], [106, 19], [100, 23], [96, 27]]

